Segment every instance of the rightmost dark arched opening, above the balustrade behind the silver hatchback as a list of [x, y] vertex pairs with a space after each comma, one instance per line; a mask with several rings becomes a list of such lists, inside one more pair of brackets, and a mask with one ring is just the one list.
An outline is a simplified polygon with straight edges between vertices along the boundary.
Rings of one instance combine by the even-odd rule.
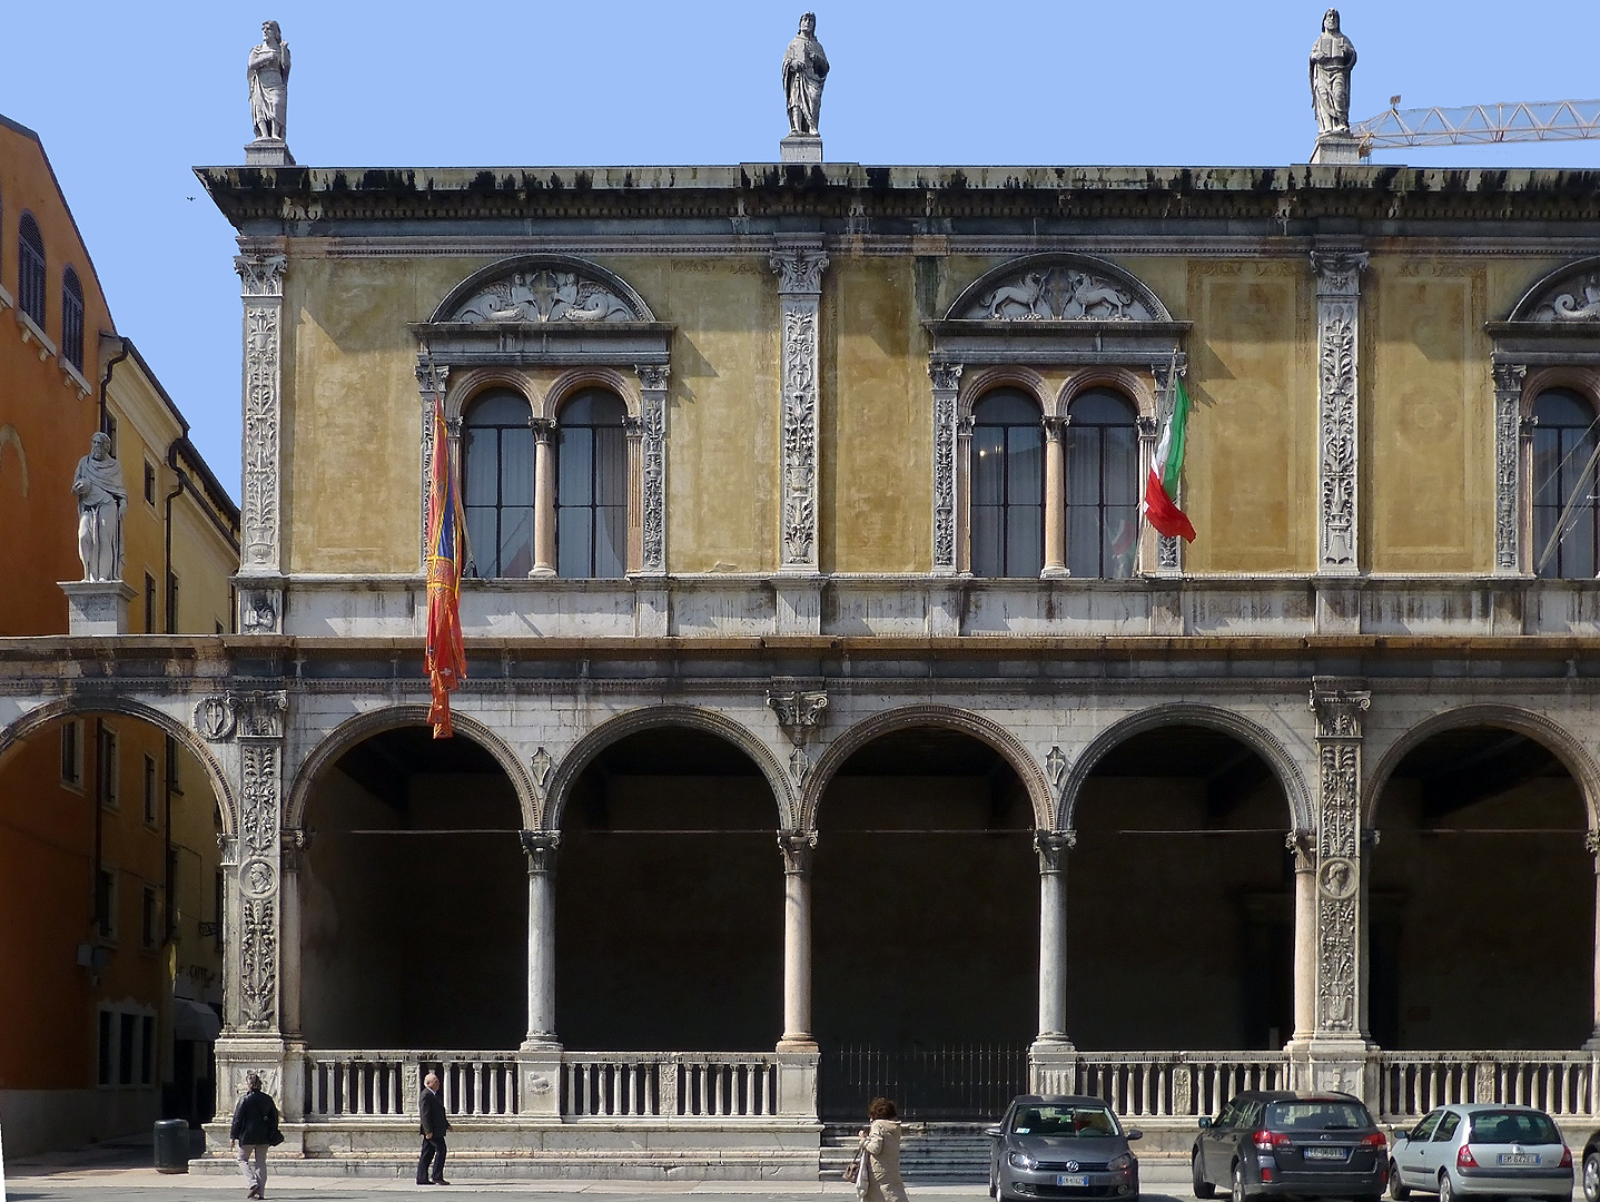
[[1384, 1048], [1576, 1048], [1594, 1034], [1582, 789], [1474, 723], [1411, 746], [1373, 810], [1371, 1034]]

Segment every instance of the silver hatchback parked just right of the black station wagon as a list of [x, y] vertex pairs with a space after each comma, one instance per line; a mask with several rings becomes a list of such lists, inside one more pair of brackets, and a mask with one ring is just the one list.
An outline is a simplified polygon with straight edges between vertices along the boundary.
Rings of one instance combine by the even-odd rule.
[[1573, 1152], [1544, 1111], [1531, 1106], [1440, 1106], [1416, 1127], [1395, 1132], [1389, 1197], [1438, 1194], [1573, 1196]]

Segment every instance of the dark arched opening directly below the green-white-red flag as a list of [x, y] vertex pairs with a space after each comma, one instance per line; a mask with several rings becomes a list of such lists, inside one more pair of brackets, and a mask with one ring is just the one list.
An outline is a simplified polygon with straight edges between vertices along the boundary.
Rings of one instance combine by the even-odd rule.
[[1205, 725], [1101, 755], [1072, 810], [1067, 1032], [1085, 1050], [1282, 1048], [1294, 1013], [1290, 805]]

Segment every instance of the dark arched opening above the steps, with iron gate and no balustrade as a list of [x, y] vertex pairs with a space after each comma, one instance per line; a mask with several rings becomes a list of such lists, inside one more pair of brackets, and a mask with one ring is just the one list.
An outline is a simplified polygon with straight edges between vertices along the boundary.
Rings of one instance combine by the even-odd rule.
[[874, 1095], [992, 1117], [1027, 1085], [1038, 1018], [1034, 808], [973, 735], [880, 735], [827, 781], [813, 877], [826, 1119]]

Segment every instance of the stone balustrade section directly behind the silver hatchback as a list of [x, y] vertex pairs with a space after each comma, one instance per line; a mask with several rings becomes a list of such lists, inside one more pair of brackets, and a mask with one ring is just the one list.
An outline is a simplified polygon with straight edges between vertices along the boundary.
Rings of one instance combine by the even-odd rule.
[[1435, 1106], [1538, 1106], [1595, 1114], [1595, 1058], [1584, 1052], [1382, 1052], [1379, 1112], [1411, 1119]]

